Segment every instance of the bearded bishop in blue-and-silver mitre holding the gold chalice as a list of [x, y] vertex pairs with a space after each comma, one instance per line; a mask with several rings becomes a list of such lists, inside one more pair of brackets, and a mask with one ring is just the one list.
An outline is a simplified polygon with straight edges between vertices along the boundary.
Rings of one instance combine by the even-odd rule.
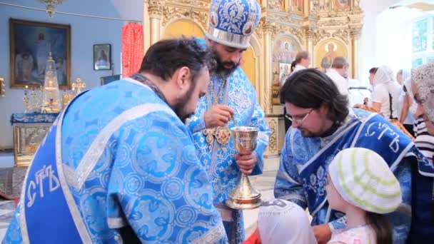
[[[206, 40], [197, 39], [203, 49], [211, 49], [218, 67], [188, 126], [199, 159], [211, 177], [214, 205], [221, 213], [230, 243], [241, 243], [244, 238], [243, 216], [241, 210], [232, 210], [225, 202], [241, 172], [262, 173], [263, 153], [271, 133], [256, 90], [239, 67], [260, 18], [261, 6], [256, 0], [214, 0]], [[235, 126], [233, 119], [238, 126], [259, 128], [255, 153], [239, 156], [236, 152], [229, 131]]]

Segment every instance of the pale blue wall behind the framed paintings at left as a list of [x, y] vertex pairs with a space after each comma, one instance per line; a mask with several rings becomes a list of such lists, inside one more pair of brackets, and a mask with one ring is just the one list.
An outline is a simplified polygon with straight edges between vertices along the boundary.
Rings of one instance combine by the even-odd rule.
[[[0, 2], [45, 9], [45, 4], [36, 0], [0, 0]], [[56, 10], [139, 21], [143, 19], [143, 1], [141, 0], [69, 0], [57, 6]], [[6, 96], [0, 97], [0, 148], [13, 146], [12, 127], [9, 123], [11, 113], [24, 111], [22, 102], [24, 90], [10, 88], [9, 18], [70, 24], [71, 81], [81, 78], [82, 81], [86, 82], [86, 88], [99, 86], [99, 78], [109, 76], [112, 73], [112, 71], [94, 71], [94, 44], [111, 44], [113, 73], [121, 72], [121, 29], [126, 24], [125, 21], [65, 14], [55, 14], [54, 18], [49, 18], [44, 11], [0, 5], [0, 77], [4, 77], [6, 83]]]

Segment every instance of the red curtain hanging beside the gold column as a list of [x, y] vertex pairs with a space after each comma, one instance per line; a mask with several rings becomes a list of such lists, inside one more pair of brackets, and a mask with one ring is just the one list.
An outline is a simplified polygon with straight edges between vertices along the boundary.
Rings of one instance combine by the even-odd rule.
[[140, 69], [143, 59], [143, 26], [129, 23], [122, 27], [122, 77]]

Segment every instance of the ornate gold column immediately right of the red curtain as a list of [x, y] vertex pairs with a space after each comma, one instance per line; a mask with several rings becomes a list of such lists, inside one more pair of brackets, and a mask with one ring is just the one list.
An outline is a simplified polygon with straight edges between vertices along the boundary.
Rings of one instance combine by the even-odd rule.
[[163, 0], [149, 0], [148, 14], [149, 14], [149, 31], [150, 31], [150, 43], [155, 44], [160, 40], [161, 29], [161, 16], [163, 16]]

